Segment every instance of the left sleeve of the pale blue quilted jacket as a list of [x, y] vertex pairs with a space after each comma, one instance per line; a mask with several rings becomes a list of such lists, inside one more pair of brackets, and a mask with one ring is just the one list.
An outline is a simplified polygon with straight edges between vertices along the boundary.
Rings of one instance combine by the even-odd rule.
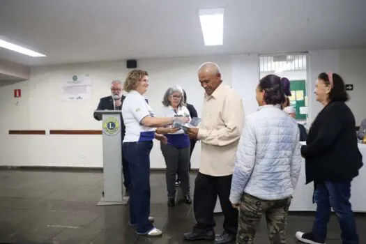
[[238, 204], [241, 200], [245, 186], [254, 169], [256, 151], [257, 139], [255, 136], [254, 123], [247, 120], [245, 121], [243, 133], [236, 151], [234, 174], [231, 181], [229, 197], [231, 204]]

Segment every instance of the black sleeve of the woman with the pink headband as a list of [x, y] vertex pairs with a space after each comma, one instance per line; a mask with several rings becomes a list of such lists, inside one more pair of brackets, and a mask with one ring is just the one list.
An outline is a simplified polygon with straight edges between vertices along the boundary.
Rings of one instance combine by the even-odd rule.
[[329, 109], [323, 121], [321, 121], [321, 125], [319, 125], [317, 137], [311, 144], [301, 147], [301, 154], [304, 158], [316, 157], [332, 146], [342, 129], [341, 115], [342, 107], [334, 105]]

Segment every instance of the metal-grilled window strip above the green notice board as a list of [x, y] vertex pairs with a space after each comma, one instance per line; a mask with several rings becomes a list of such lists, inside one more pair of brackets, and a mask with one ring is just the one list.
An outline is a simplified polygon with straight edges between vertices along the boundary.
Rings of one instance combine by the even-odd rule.
[[306, 70], [306, 55], [259, 56], [259, 69], [260, 72]]

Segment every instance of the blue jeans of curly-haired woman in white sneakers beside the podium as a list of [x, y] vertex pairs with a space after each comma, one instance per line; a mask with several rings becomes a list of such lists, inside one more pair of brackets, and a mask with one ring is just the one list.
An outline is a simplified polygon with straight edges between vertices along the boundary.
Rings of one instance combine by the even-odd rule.
[[125, 142], [123, 153], [130, 167], [130, 224], [137, 226], [137, 234], [153, 229], [150, 215], [150, 151], [153, 142]]

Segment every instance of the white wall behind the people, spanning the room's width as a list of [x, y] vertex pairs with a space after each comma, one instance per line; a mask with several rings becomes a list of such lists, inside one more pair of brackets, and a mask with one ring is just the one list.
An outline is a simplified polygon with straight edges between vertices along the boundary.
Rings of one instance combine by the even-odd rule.
[[[307, 74], [310, 122], [321, 106], [314, 100], [315, 80], [320, 72], [339, 72], [346, 83], [354, 84], [349, 106], [357, 123], [366, 117], [366, 49], [322, 50], [309, 52]], [[201, 114], [203, 89], [197, 79], [197, 68], [204, 61], [216, 61], [222, 77], [243, 97], [245, 114], [256, 111], [255, 88], [259, 82], [258, 55], [199, 56], [179, 59], [146, 59], [139, 68], [150, 73], [149, 103], [157, 111], [162, 95], [169, 86], [180, 84], [188, 101]], [[99, 130], [93, 110], [102, 96], [109, 95], [112, 79], [124, 79], [128, 70], [124, 61], [48, 66], [31, 69], [31, 79], [15, 84], [0, 84], [0, 165], [51, 165], [102, 167], [101, 135], [8, 135], [8, 130]], [[62, 101], [61, 84], [73, 75], [89, 74], [92, 99]], [[286, 74], [282, 74], [286, 76]], [[22, 98], [13, 98], [13, 89], [22, 89]], [[19, 103], [17, 103], [19, 102]], [[192, 167], [199, 167], [200, 144], [192, 155]], [[158, 142], [151, 153], [151, 167], [165, 168]]]

